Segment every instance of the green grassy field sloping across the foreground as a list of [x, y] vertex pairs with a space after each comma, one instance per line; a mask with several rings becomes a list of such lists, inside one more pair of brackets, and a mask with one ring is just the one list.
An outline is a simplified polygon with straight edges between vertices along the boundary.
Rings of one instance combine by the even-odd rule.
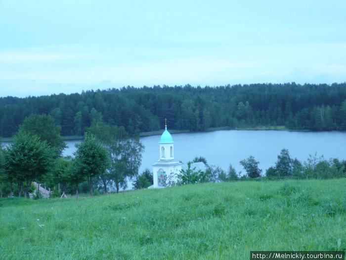
[[346, 179], [0, 200], [0, 259], [249, 259], [346, 250]]

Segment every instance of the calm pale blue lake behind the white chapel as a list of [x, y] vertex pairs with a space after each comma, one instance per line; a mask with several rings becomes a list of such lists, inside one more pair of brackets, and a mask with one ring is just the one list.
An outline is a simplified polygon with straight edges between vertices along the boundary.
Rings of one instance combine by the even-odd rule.
[[[163, 131], [162, 131], [163, 132]], [[187, 162], [196, 156], [204, 156], [210, 165], [228, 170], [231, 163], [242, 174], [245, 170], [239, 161], [255, 156], [259, 168], [265, 170], [273, 166], [280, 151], [285, 148], [292, 158], [301, 162], [309, 155], [324, 156], [326, 159], [346, 159], [346, 132], [298, 132], [298, 131], [247, 131], [223, 130], [205, 133], [172, 134], [174, 158]], [[159, 159], [160, 135], [140, 138], [145, 146], [139, 172], [151, 169], [151, 164]], [[77, 141], [80, 142], [80, 141]], [[64, 156], [72, 155], [76, 141], [66, 141], [69, 146]]]

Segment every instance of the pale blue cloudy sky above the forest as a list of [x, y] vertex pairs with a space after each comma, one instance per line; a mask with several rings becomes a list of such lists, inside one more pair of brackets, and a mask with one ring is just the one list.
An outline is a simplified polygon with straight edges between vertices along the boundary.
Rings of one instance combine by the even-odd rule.
[[0, 97], [346, 81], [345, 0], [0, 0]]

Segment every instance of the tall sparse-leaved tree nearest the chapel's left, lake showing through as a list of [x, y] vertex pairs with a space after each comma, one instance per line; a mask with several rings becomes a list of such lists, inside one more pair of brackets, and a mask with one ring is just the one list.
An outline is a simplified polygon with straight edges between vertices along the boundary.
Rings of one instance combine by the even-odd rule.
[[94, 134], [108, 151], [110, 164], [107, 176], [101, 175], [104, 187], [106, 189], [107, 182], [112, 180], [118, 193], [120, 187], [127, 187], [127, 178], [138, 174], [144, 147], [139, 138], [130, 137], [124, 127], [110, 126], [102, 120], [94, 120], [88, 131]]

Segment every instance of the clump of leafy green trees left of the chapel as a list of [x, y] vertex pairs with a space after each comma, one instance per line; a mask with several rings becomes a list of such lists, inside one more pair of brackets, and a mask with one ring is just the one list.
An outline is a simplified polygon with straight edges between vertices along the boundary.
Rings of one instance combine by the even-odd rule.
[[92, 122], [84, 140], [76, 147], [74, 158], [62, 157], [65, 143], [60, 137], [60, 127], [50, 115], [30, 115], [10, 145], [0, 149], [1, 196], [3, 186], [4, 193], [13, 196], [16, 184], [16, 195], [28, 197], [33, 181], [57, 186], [56, 196], [66, 196], [74, 186], [78, 198], [79, 185], [85, 181], [91, 196], [100, 183], [104, 192], [112, 185], [119, 192], [120, 188], [126, 188], [127, 178], [137, 175], [144, 149], [138, 137], [101, 119]]

